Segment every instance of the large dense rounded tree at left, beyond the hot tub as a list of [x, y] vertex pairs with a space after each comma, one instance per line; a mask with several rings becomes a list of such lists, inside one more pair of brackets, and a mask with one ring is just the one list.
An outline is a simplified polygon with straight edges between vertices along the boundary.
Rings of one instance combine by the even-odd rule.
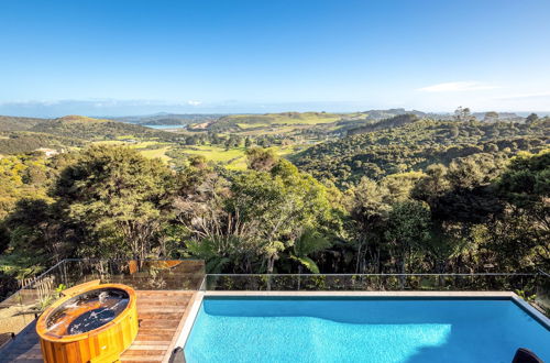
[[61, 175], [58, 208], [84, 241], [79, 253], [145, 258], [170, 205], [172, 173], [127, 147], [90, 146]]

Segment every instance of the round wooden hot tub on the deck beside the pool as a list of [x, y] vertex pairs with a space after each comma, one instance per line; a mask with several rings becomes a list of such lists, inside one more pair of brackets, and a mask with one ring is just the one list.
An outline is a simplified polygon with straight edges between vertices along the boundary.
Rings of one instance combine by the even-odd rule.
[[114, 362], [138, 334], [133, 288], [99, 280], [64, 292], [36, 322], [44, 362]]

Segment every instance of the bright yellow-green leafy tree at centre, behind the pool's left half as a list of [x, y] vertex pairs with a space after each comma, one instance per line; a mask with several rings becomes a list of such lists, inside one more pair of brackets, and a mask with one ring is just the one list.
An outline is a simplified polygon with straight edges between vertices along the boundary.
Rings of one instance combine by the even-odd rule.
[[270, 173], [252, 170], [237, 177], [230, 189], [229, 211], [255, 226], [268, 273], [298, 231], [330, 219], [326, 188], [285, 160], [279, 160]]

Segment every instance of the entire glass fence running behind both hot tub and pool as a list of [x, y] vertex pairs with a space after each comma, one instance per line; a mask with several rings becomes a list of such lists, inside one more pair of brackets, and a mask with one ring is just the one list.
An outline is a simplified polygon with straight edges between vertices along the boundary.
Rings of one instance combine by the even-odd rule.
[[0, 344], [65, 288], [99, 279], [138, 290], [515, 292], [547, 316], [550, 275], [539, 274], [205, 274], [199, 260], [65, 260], [0, 302]]

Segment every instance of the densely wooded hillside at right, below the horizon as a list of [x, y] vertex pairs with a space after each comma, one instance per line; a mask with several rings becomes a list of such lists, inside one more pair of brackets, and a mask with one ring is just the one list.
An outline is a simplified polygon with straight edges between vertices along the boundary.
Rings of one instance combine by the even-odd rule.
[[531, 125], [422, 120], [320, 143], [292, 161], [317, 178], [344, 186], [363, 176], [381, 179], [474, 154], [506, 157], [518, 151], [538, 152], [548, 147], [549, 135], [548, 118]]

